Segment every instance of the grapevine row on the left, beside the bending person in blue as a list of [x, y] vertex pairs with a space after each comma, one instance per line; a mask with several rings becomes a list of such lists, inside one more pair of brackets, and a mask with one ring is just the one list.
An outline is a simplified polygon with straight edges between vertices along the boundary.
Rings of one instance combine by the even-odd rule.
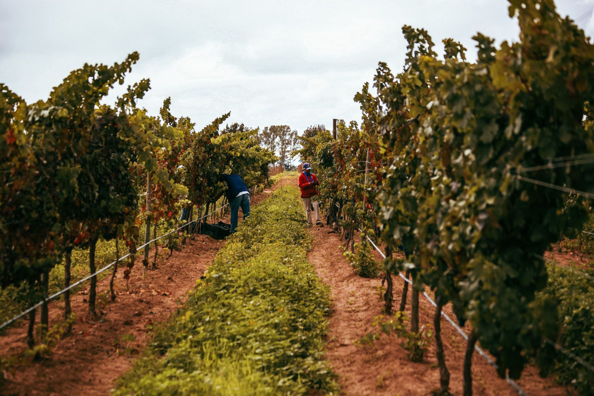
[[[0, 287], [26, 290], [27, 305], [48, 295], [56, 265], [64, 265], [64, 288], [71, 284], [73, 249], [88, 251], [93, 274], [97, 242], [115, 240], [118, 256], [120, 249], [130, 254], [128, 279], [143, 230], [173, 229], [182, 208], [214, 207], [224, 173], [238, 173], [248, 186], [268, 180], [277, 158], [258, 145], [257, 129], [219, 132], [230, 113], [197, 131], [189, 118], [170, 113], [168, 98], [160, 116], [149, 116], [137, 106], [148, 79], [105, 104], [138, 59], [134, 52], [113, 66], [85, 64], [36, 103], [0, 84]], [[146, 274], [146, 254], [143, 264]], [[97, 316], [96, 284], [94, 276], [90, 317]], [[69, 292], [64, 315], [72, 318]], [[35, 311], [29, 320], [33, 347]], [[40, 321], [43, 343], [47, 303]]]

